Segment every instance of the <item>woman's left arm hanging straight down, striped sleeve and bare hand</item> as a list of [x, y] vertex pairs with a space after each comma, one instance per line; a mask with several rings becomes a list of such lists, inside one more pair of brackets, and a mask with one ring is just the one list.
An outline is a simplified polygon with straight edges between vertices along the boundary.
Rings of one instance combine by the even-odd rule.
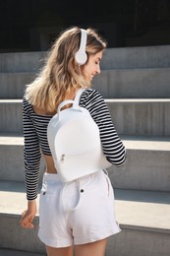
[[27, 189], [28, 208], [22, 214], [20, 224], [26, 228], [32, 228], [32, 221], [36, 215], [36, 197], [38, 190], [38, 175], [40, 165], [39, 142], [29, 115], [30, 105], [23, 100], [23, 126], [24, 126], [24, 162], [25, 162], [25, 184]]

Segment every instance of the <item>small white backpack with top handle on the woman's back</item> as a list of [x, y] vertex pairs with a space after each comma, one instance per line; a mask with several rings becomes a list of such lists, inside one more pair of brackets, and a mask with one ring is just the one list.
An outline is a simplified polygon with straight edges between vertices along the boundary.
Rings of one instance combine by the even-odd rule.
[[[47, 127], [48, 144], [57, 172], [68, 182], [112, 164], [106, 160], [99, 129], [89, 111], [79, 105], [80, 89], [75, 100], [64, 100]], [[68, 103], [72, 107], [61, 110]]]

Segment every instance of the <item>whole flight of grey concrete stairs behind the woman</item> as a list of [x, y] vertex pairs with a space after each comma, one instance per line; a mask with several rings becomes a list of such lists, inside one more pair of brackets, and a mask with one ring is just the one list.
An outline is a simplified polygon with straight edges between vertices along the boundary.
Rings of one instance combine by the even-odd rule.
[[[27, 204], [22, 97], [45, 56], [0, 54], [0, 256], [46, 255], [36, 236], [38, 215], [33, 230], [19, 225]], [[101, 69], [93, 87], [127, 148], [126, 163], [108, 169], [122, 231], [109, 238], [106, 256], [169, 256], [170, 45], [109, 48]], [[42, 160], [40, 179], [43, 171]]]

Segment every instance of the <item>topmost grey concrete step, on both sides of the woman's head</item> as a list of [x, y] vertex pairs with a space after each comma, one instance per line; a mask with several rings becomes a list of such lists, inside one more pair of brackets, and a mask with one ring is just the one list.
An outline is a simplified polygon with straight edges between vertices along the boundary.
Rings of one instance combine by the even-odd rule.
[[[1, 53], [0, 72], [36, 72], [46, 51]], [[170, 45], [107, 48], [101, 69], [170, 67]]]

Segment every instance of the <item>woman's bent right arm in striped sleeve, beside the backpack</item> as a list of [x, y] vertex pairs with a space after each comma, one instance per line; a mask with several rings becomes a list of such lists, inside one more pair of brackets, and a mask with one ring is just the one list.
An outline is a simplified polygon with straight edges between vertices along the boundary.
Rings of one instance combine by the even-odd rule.
[[87, 89], [81, 97], [80, 104], [88, 109], [98, 125], [103, 153], [107, 160], [116, 166], [122, 165], [126, 160], [126, 149], [113, 125], [103, 96], [95, 90]]

